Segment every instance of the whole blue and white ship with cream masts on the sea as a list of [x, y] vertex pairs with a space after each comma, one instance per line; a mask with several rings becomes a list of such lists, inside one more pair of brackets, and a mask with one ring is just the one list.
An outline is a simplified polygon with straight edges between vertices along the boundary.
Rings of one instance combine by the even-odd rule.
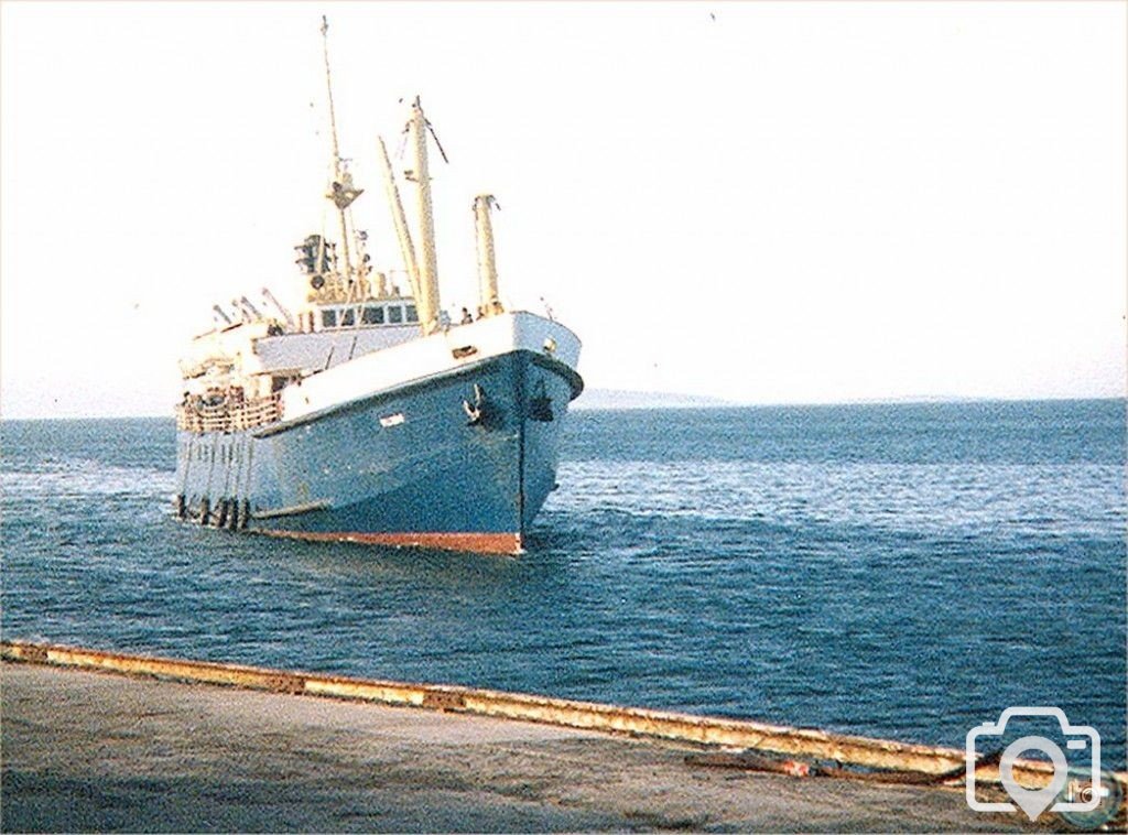
[[[328, 84], [327, 41], [325, 59]], [[457, 322], [442, 311], [428, 173], [438, 138], [418, 99], [406, 133], [420, 245], [381, 139], [404, 269], [376, 271], [328, 90], [337, 238], [323, 230], [296, 247], [293, 313], [263, 289], [258, 304], [214, 306], [214, 326], [193, 340], [180, 362], [176, 512], [273, 536], [519, 554], [556, 487], [562, 425], [583, 389], [580, 341], [550, 313], [502, 304], [491, 195], [473, 203], [476, 310]]]

